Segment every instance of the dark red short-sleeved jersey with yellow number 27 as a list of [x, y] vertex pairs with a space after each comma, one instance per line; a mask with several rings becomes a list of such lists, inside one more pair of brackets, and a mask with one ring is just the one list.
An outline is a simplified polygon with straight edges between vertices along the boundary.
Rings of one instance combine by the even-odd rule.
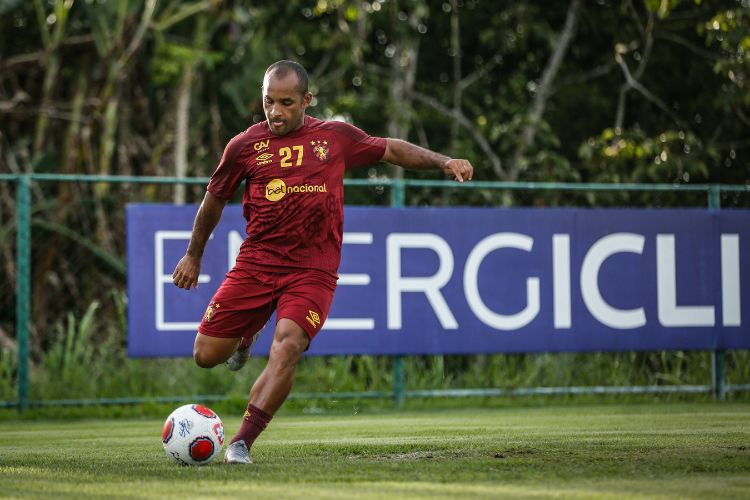
[[208, 191], [227, 200], [247, 181], [242, 199], [247, 238], [237, 265], [335, 275], [344, 228], [344, 172], [378, 162], [385, 146], [385, 139], [348, 123], [310, 116], [281, 137], [263, 121], [229, 141]]

